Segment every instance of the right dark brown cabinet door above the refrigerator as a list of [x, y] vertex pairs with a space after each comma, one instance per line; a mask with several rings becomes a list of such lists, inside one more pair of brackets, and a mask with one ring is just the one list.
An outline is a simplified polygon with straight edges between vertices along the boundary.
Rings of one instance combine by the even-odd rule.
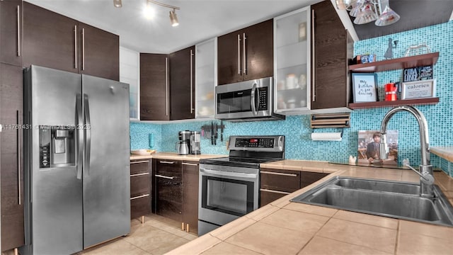
[[79, 73], [120, 80], [120, 37], [79, 23]]

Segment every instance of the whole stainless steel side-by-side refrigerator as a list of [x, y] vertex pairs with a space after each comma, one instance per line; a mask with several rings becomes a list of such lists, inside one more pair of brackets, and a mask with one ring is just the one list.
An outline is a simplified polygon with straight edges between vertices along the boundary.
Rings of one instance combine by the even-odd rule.
[[130, 232], [129, 85], [24, 69], [25, 246], [73, 254]]

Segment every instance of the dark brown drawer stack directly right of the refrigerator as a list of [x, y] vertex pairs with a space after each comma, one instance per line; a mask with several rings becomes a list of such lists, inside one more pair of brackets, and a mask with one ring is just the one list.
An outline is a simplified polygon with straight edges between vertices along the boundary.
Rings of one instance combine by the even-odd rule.
[[130, 218], [151, 213], [151, 159], [130, 162]]

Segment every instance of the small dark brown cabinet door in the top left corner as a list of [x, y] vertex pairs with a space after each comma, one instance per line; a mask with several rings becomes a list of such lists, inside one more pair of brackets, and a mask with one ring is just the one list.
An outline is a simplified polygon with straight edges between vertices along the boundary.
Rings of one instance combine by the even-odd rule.
[[22, 1], [0, 1], [0, 62], [22, 67]]

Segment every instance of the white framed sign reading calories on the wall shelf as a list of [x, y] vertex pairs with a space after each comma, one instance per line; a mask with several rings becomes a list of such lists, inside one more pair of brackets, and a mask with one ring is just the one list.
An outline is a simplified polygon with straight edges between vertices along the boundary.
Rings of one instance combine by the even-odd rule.
[[436, 80], [403, 82], [401, 99], [431, 98], [436, 96]]

